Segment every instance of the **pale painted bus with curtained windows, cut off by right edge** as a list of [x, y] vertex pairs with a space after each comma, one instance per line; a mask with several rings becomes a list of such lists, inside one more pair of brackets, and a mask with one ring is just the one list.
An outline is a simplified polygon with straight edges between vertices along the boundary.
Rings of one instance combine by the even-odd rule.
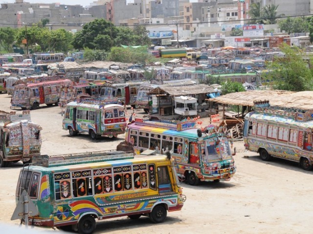
[[244, 141], [247, 150], [264, 161], [273, 156], [299, 162], [304, 170], [313, 167], [313, 110], [294, 111], [255, 101], [254, 111], [245, 117]]

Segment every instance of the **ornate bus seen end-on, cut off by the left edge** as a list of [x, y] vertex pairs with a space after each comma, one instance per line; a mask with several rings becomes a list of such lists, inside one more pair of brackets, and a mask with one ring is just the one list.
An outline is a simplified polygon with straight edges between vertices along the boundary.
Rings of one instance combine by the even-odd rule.
[[40, 154], [41, 127], [30, 120], [29, 111], [22, 114], [0, 111], [0, 167], [9, 162], [29, 162]]

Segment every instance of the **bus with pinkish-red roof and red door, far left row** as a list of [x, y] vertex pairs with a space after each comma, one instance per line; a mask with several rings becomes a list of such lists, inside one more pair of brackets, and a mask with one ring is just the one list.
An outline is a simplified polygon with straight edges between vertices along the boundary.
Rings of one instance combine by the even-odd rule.
[[[40, 104], [58, 105], [60, 89], [72, 83], [69, 79], [47, 77], [46, 81], [27, 83], [24, 80], [15, 82], [11, 99], [11, 109], [37, 109]], [[29, 81], [29, 80], [28, 80]]]

